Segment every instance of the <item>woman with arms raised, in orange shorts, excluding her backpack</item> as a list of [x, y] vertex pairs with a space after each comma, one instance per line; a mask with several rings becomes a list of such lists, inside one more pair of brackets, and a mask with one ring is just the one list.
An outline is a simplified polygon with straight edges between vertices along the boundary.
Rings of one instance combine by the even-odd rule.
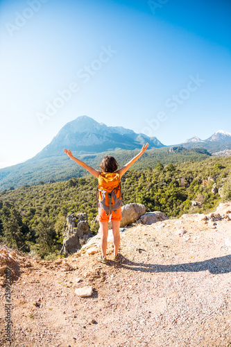
[[[128, 169], [134, 164], [146, 151], [148, 148], [148, 144], [144, 145], [142, 147], [142, 150], [139, 152], [139, 154], [135, 155], [130, 162], [128, 162], [124, 167], [118, 170], [118, 163], [117, 160], [114, 159], [111, 155], [106, 155], [102, 162], [101, 162], [101, 170], [105, 172], [116, 172], [119, 174], [120, 178], [123, 176], [123, 174], [128, 171]], [[99, 179], [99, 176], [101, 175], [102, 171], [93, 169], [93, 167], [90, 167], [82, 160], [79, 160], [72, 155], [71, 151], [68, 149], [64, 149], [65, 153], [69, 155], [69, 158], [77, 162], [81, 167], [89, 171], [90, 174], [95, 176]], [[111, 221], [112, 221], [112, 233], [114, 237], [114, 260], [118, 260], [118, 250], [119, 250], [119, 244], [120, 244], [120, 235], [119, 235], [119, 226], [121, 221], [121, 208], [117, 210], [117, 212], [112, 211]], [[108, 246], [108, 221], [109, 221], [109, 215], [106, 214], [106, 212], [103, 210], [103, 208], [99, 208], [99, 225], [101, 228], [101, 257], [98, 258], [99, 262], [107, 262], [106, 258], [106, 251]]]

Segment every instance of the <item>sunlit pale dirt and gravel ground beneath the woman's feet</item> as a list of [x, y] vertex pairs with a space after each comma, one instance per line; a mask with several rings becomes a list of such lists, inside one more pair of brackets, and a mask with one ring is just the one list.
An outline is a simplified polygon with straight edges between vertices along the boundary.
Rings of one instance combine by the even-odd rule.
[[[222, 206], [223, 216], [229, 206]], [[118, 264], [96, 262], [99, 253], [38, 262], [1, 250], [1, 266], [16, 276], [11, 345], [3, 342], [1, 287], [1, 346], [231, 346], [231, 221], [201, 219], [189, 215], [121, 232]], [[92, 296], [74, 294], [86, 285]]]

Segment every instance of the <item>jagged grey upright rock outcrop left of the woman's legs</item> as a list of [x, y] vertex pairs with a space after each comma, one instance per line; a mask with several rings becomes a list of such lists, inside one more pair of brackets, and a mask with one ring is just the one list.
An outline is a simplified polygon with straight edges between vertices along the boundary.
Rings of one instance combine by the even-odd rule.
[[89, 237], [92, 237], [92, 234], [87, 223], [87, 214], [68, 214], [60, 255], [76, 253]]

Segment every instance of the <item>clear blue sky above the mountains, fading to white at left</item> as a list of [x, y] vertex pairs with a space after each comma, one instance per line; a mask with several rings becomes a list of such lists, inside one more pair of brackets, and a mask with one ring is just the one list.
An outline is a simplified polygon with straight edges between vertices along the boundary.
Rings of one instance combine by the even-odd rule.
[[1, 0], [0, 167], [87, 115], [177, 144], [231, 133], [228, 0]]

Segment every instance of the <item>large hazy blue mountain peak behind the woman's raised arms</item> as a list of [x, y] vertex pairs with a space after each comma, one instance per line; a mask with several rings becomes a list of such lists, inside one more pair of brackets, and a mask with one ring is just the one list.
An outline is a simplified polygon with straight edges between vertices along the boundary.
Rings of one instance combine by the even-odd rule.
[[114, 149], [140, 149], [149, 143], [149, 149], [163, 147], [156, 137], [137, 134], [122, 126], [106, 126], [94, 119], [82, 116], [70, 121], [35, 158], [61, 155], [63, 149], [78, 153], [99, 153]]

